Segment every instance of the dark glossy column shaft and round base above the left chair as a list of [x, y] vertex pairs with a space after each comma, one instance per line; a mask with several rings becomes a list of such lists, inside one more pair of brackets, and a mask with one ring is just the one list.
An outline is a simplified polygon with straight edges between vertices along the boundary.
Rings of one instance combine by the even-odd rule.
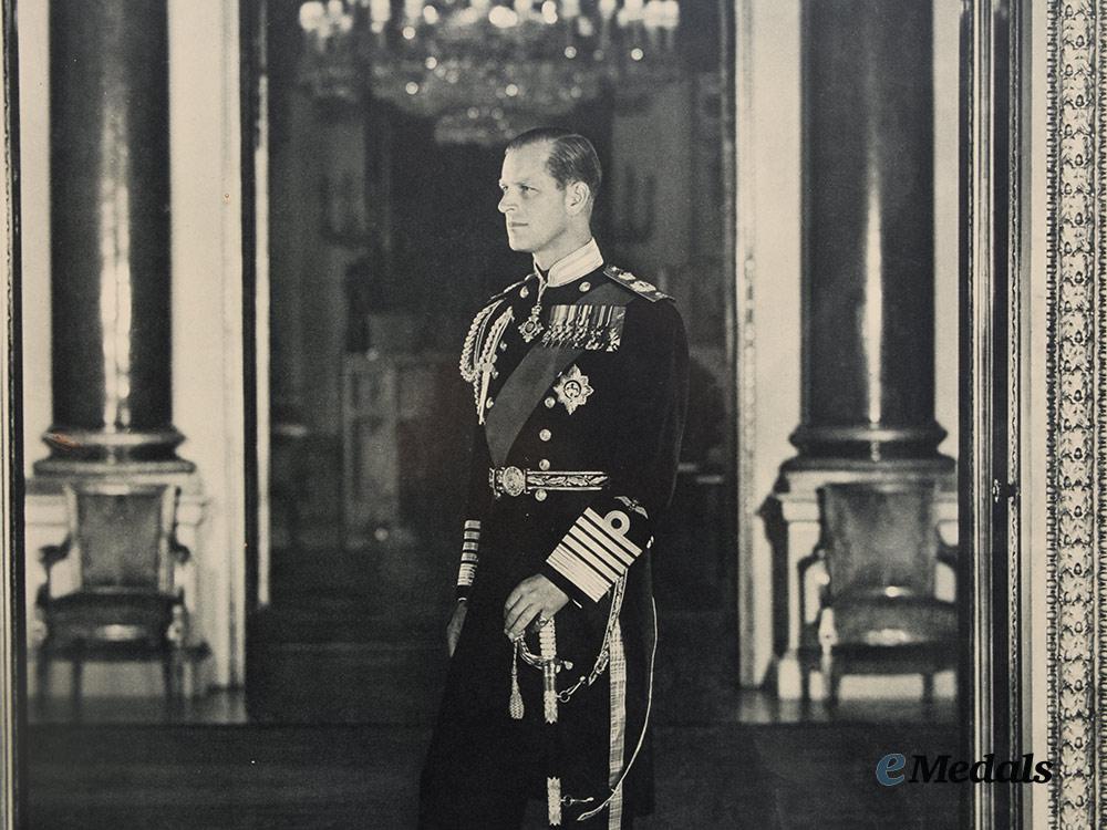
[[51, 448], [40, 475], [182, 473], [165, 0], [50, 4]]

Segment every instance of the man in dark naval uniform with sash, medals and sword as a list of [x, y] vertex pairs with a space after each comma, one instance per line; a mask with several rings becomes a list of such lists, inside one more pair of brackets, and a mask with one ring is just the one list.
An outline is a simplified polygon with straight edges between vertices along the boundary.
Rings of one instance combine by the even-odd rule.
[[420, 827], [630, 827], [653, 802], [646, 726], [653, 532], [687, 397], [672, 300], [607, 263], [588, 139], [508, 146], [499, 211], [534, 272], [479, 311], [462, 353], [476, 413], [451, 666]]

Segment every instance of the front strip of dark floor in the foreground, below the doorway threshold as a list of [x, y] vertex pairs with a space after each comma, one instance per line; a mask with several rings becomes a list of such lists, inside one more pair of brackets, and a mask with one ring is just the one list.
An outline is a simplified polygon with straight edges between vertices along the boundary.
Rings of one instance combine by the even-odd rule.
[[[63, 726], [31, 732], [27, 827], [413, 827], [427, 730], [404, 726]], [[664, 726], [643, 828], [952, 828], [958, 789], [886, 788], [883, 754], [953, 751], [904, 724]], [[536, 803], [528, 827], [541, 827]], [[495, 830], [495, 829], [489, 829]]]

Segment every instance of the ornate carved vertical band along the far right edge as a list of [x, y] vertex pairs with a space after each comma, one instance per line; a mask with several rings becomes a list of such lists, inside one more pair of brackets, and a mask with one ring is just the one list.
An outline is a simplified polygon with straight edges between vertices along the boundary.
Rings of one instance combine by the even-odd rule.
[[1046, 363], [1053, 828], [1107, 816], [1107, 2], [1051, 3]]

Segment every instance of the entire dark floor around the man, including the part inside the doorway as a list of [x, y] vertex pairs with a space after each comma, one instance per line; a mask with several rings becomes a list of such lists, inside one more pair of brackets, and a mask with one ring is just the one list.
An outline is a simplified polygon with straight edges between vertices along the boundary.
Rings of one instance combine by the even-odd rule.
[[[80, 723], [64, 702], [34, 713], [24, 826], [411, 828], [445, 660], [448, 574], [420, 573], [411, 551], [331, 552], [322, 569], [319, 556], [310, 568], [275, 562], [273, 609], [251, 633], [248, 699], [211, 695], [177, 723], [143, 699], [89, 699]], [[427, 584], [444, 585], [443, 596]], [[724, 608], [670, 602], [661, 612], [658, 802], [638, 826], [956, 826], [963, 788], [886, 788], [873, 772], [890, 751], [955, 754], [951, 704], [845, 701], [831, 713], [743, 692]], [[545, 826], [541, 812], [534, 805], [528, 828]]]

